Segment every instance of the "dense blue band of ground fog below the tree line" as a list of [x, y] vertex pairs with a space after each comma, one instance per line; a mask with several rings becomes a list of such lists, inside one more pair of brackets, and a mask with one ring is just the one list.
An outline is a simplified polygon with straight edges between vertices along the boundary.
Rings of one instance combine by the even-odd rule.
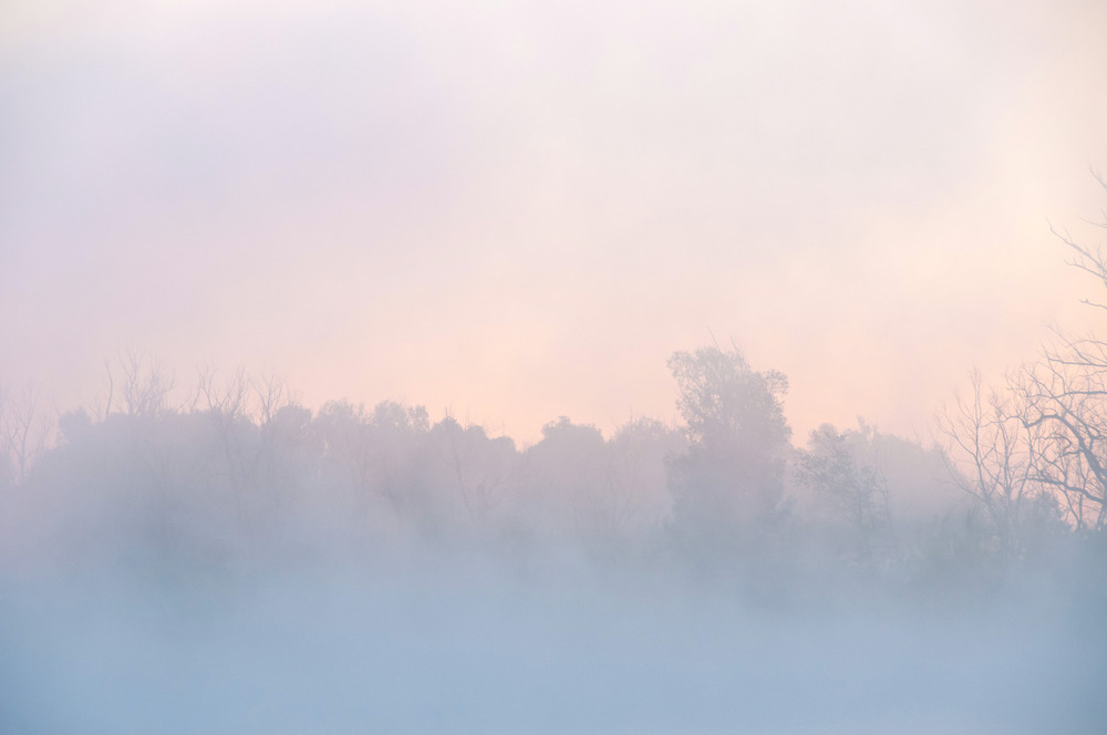
[[1090, 615], [1007, 603], [941, 622], [902, 610], [770, 618], [686, 590], [412, 587], [313, 574], [224, 590], [218, 602], [163, 586], [35, 591], [33, 605], [4, 605], [6, 728], [1101, 728]]

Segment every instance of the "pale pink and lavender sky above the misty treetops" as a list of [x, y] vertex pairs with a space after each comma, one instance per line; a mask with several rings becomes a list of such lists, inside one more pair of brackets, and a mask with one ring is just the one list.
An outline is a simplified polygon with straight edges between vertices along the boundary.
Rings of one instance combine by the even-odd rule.
[[[671, 420], [675, 350], [790, 379], [797, 437], [929, 437], [1094, 328], [1107, 6], [0, 7], [0, 386], [105, 359], [282, 375], [523, 443]], [[1098, 238], [1098, 240], [1097, 240]]]

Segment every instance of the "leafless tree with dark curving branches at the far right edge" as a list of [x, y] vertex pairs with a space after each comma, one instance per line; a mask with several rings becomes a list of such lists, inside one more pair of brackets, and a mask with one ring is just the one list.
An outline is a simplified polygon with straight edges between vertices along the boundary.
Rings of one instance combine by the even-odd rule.
[[[1107, 182], [1092, 173], [1107, 191]], [[1107, 229], [1107, 211], [1100, 216], [1088, 224]], [[1103, 247], [1051, 231], [1073, 253], [1068, 265], [1107, 289]], [[1082, 301], [1107, 310], [1101, 300]], [[1107, 528], [1107, 341], [1055, 333], [1042, 358], [1014, 373], [1003, 391], [985, 398], [974, 373], [972, 398], [959, 398], [941, 422], [949, 448], [963, 460], [951, 467], [954, 482], [980, 500], [1004, 552], [1020, 552], [1028, 525], [1047, 521], [1056, 505], [1078, 530]]]

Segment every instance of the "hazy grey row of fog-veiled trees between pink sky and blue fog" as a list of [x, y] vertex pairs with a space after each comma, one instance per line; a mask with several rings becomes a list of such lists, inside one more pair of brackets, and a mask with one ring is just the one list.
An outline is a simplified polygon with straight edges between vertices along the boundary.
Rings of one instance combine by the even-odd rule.
[[[1103, 252], [1059, 239], [1107, 288]], [[201, 372], [170, 405], [174, 382], [155, 361], [106, 368], [101, 405], [56, 428], [33, 391], [0, 396], [6, 566], [475, 552], [520, 570], [573, 559], [669, 571], [772, 598], [844, 574], [972, 590], [1107, 559], [1107, 341], [1094, 335], [1058, 332], [1004, 385], [974, 376], [933, 446], [865, 423], [797, 442], [786, 376], [717, 345], [669, 360], [681, 425], [641, 418], [604, 437], [560, 417], [523, 449], [448, 416], [432, 424], [422, 406], [312, 411], [282, 381], [242, 372]]]

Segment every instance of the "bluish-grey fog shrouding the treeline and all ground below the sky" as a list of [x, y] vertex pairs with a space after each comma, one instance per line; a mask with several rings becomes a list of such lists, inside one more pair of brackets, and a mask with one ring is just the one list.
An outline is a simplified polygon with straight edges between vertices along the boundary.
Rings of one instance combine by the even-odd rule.
[[[25, 404], [3, 416], [6, 732], [1095, 733], [1107, 715], [1101, 513], [1044, 476], [997, 497], [953, 443], [865, 423], [794, 442], [786, 377], [736, 350], [671, 356], [681, 425], [561, 417], [526, 447], [422, 406], [311, 411], [246, 373], [203, 372], [177, 406], [157, 363], [108, 365], [100, 413], [63, 414], [25, 464]], [[1031, 446], [975, 469], [1043, 462]]]

